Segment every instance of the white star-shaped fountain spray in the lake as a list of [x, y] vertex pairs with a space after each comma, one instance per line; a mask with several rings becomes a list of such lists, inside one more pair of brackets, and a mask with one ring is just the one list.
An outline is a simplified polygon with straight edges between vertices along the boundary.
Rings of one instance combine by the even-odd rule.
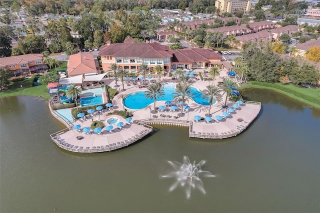
[[183, 156], [183, 163], [177, 161], [168, 161], [172, 166], [173, 171], [162, 175], [162, 177], [173, 177], [175, 182], [170, 186], [169, 191], [173, 191], [178, 186], [184, 187], [186, 198], [189, 199], [191, 196], [191, 189], [196, 188], [205, 194], [203, 183], [199, 177], [215, 177], [211, 172], [201, 169], [201, 166], [205, 164], [205, 160], [201, 160], [195, 164], [190, 162], [187, 156]]

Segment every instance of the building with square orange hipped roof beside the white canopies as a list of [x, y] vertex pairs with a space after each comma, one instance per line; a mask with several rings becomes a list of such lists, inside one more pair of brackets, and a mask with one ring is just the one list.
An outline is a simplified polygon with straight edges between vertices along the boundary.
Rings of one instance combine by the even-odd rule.
[[84, 52], [70, 55], [66, 67], [69, 77], [80, 74], [97, 74], [99, 69], [99, 63], [94, 60], [93, 54]]

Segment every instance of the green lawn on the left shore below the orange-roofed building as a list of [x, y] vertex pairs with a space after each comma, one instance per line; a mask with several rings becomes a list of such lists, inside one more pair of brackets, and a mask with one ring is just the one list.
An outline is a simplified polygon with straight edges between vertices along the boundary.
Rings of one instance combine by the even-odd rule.
[[[15, 96], [15, 95], [31, 95], [41, 96], [45, 99], [49, 99], [49, 94], [45, 85], [32, 86], [34, 77], [25, 78], [24, 80], [12, 82], [9, 89], [0, 92], [0, 97]], [[22, 88], [20, 87], [22, 85]]]

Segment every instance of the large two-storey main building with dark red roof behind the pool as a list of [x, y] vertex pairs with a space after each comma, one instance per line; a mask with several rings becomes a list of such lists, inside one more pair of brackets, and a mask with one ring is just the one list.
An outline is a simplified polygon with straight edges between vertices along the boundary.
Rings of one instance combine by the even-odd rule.
[[157, 43], [113, 43], [100, 48], [102, 69], [110, 71], [110, 64], [130, 72], [139, 70], [141, 63], [149, 68], [161, 65], [165, 70], [181, 68], [204, 68], [205, 66], [221, 64], [222, 56], [213, 50], [200, 48], [185, 48], [169, 50], [168, 46]]

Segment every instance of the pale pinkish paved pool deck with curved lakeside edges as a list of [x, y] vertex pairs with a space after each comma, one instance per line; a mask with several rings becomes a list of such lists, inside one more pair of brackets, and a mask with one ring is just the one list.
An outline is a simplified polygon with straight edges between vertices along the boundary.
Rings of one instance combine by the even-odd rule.
[[[223, 72], [220, 76], [224, 75]], [[157, 80], [157, 78], [152, 78]], [[105, 79], [104, 81], [108, 81]], [[147, 80], [148, 81], [148, 80]], [[222, 78], [214, 80], [214, 84], [218, 81], [222, 81]], [[165, 82], [176, 82], [172, 80], [171, 77], [161, 77], [161, 83]], [[119, 89], [122, 88], [121, 82], [118, 82], [118, 86], [115, 86], [114, 81], [107, 82], [111, 87]], [[202, 81], [193, 80], [192, 86], [203, 91], [207, 85], [211, 84], [212, 81]], [[132, 84], [131, 84], [132, 85]], [[120, 93], [130, 93], [133, 91], [143, 91], [146, 88], [139, 88], [139, 81], [136, 85], [124, 84], [125, 91]], [[225, 95], [223, 96], [223, 100]], [[174, 101], [171, 101], [174, 104]], [[223, 101], [224, 103], [224, 101]], [[222, 112], [226, 111], [226, 108], [222, 108], [223, 103], [215, 103], [211, 105], [210, 115], [213, 122], [205, 122], [204, 117], [208, 115], [209, 106], [199, 105], [193, 100], [189, 100], [186, 104], [190, 106], [188, 111], [180, 113], [180, 108], [176, 111], [171, 112], [169, 107], [160, 110], [153, 110], [153, 102], [145, 108], [142, 109], [128, 109], [133, 113], [132, 123], [125, 124], [122, 129], [115, 128], [112, 133], [108, 133], [105, 128], [103, 128], [101, 134], [92, 133], [90, 135], [84, 132], [78, 132], [72, 129], [73, 125], [80, 124], [81, 128], [85, 126], [90, 126], [92, 120], [100, 120], [105, 125], [105, 121], [110, 117], [117, 117], [120, 121], [127, 123], [124, 118], [118, 115], [108, 115], [107, 113], [116, 109], [123, 110], [123, 103], [121, 98], [117, 98], [117, 95], [112, 100], [112, 109], [102, 111], [102, 114], [98, 112], [93, 113], [93, 117], [88, 117], [85, 121], [76, 120], [70, 127], [63, 129], [59, 132], [51, 134], [52, 140], [61, 148], [70, 150], [73, 152], [103, 152], [110, 151], [118, 148], [127, 146], [148, 133], [152, 131], [152, 126], [148, 124], [164, 124], [164, 125], [177, 125], [188, 127], [188, 136], [197, 138], [211, 138], [211, 139], [222, 139], [231, 136], [235, 136], [245, 130], [248, 125], [257, 117], [261, 104], [254, 101], [244, 101], [244, 104], [239, 105], [240, 107], [234, 112], [230, 113], [230, 116], [224, 117], [223, 120], [217, 122], [215, 116], [221, 115]], [[227, 105], [231, 106], [234, 102], [227, 101]], [[157, 101], [156, 107], [159, 105], [165, 105], [165, 101]], [[196, 121], [194, 116], [199, 115], [203, 119]], [[116, 125], [113, 125], [114, 127]], [[82, 136], [83, 138], [78, 140], [76, 137]]]

